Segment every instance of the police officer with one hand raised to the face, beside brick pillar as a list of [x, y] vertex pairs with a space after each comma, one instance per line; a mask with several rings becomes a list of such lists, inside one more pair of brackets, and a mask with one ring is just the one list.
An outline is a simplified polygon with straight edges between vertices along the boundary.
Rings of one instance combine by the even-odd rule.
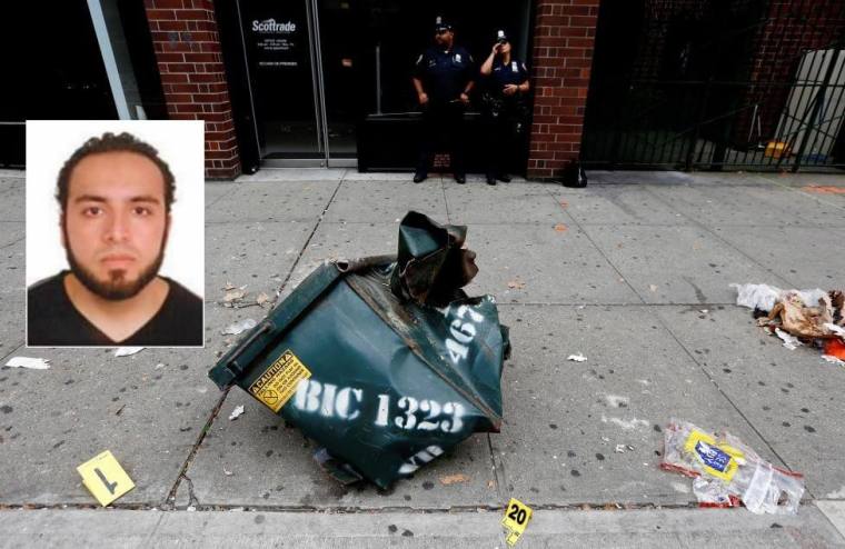
[[531, 84], [525, 63], [510, 54], [510, 42], [504, 30], [497, 32], [496, 43], [480, 72], [486, 77], [481, 114], [488, 138], [487, 184], [496, 184], [497, 179], [508, 182], [507, 168], [520, 146], [527, 113], [525, 94]]

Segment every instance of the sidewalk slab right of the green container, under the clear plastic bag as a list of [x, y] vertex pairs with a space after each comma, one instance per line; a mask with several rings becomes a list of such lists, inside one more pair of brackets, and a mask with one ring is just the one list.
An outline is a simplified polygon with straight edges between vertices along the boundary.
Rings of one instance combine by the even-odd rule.
[[[506, 493], [528, 505], [695, 502], [690, 479], [659, 469], [672, 418], [730, 427], [782, 465], [653, 308], [508, 306], [501, 317], [514, 351], [505, 425], [490, 440]], [[567, 360], [577, 353], [587, 360]]]

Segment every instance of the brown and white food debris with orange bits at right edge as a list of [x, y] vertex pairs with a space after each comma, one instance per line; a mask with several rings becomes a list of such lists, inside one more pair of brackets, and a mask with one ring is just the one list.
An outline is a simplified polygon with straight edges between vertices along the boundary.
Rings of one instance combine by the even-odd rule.
[[754, 310], [757, 325], [775, 335], [784, 347], [805, 345], [825, 356], [845, 357], [845, 295], [841, 290], [782, 290], [768, 285], [730, 285], [736, 305]]

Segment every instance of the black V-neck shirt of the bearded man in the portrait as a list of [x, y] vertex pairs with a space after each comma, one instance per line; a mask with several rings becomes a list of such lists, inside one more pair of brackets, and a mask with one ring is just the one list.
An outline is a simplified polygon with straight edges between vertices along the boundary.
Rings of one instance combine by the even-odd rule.
[[160, 277], [170, 291], [159, 311], [138, 331], [122, 341], [101, 332], [73, 306], [64, 290], [61, 271], [28, 289], [28, 332], [30, 346], [201, 346], [202, 300], [167, 277]]

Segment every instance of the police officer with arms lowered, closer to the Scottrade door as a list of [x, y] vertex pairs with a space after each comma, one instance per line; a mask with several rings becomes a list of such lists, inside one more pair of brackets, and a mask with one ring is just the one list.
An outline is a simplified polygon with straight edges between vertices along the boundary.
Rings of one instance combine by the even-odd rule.
[[464, 110], [475, 86], [473, 57], [455, 46], [451, 24], [443, 17], [435, 23], [435, 46], [419, 56], [414, 71], [414, 88], [422, 109], [419, 160], [414, 182], [428, 177], [428, 167], [439, 138], [446, 137], [455, 181], [466, 182], [464, 171]]

